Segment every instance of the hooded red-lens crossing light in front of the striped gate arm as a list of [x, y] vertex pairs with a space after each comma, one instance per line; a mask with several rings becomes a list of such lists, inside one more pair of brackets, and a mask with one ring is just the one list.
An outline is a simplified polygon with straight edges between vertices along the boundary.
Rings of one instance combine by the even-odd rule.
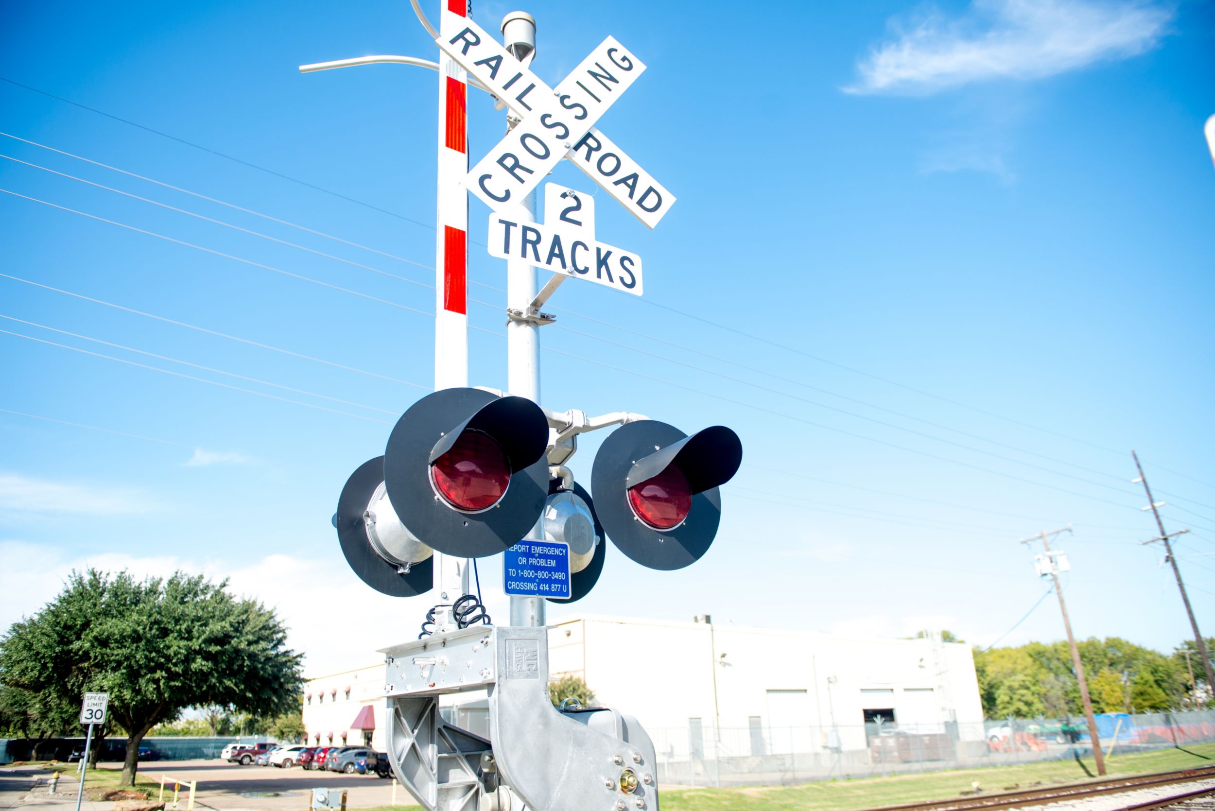
[[405, 529], [457, 557], [513, 546], [549, 493], [548, 420], [536, 403], [443, 389], [401, 416], [384, 449], [384, 488]]

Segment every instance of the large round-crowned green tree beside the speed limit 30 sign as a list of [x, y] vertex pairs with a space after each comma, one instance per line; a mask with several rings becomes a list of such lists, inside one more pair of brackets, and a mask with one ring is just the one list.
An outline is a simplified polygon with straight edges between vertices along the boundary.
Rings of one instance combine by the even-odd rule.
[[38, 694], [52, 713], [78, 711], [86, 690], [109, 693], [126, 733], [119, 779], [135, 782], [139, 745], [182, 709], [220, 704], [273, 714], [298, 707], [300, 654], [275, 612], [227, 592], [227, 582], [175, 573], [73, 572], [60, 595], [0, 639], [0, 682]]

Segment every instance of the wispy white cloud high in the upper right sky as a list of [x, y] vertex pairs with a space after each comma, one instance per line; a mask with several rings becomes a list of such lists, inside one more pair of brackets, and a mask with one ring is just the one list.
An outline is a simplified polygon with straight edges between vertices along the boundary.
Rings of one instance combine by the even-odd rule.
[[892, 22], [895, 38], [857, 69], [853, 93], [927, 93], [990, 79], [1036, 79], [1148, 51], [1172, 11], [1138, 0], [974, 0], [966, 15]]

